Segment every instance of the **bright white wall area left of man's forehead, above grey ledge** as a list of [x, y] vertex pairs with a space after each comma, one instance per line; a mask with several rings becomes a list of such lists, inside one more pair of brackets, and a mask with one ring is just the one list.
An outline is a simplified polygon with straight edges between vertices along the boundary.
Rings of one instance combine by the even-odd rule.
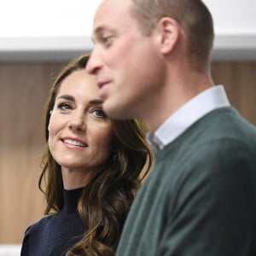
[[90, 36], [102, 0], [8, 0], [0, 2], [1, 37]]

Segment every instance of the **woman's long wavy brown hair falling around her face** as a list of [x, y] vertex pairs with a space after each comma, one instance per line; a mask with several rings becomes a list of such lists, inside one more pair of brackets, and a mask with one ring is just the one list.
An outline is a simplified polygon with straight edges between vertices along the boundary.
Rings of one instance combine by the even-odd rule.
[[[43, 172], [38, 182], [47, 201], [45, 214], [60, 212], [64, 205], [61, 166], [54, 160], [48, 145], [50, 111], [54, 108], [61, 82], [74, 71], [84, 69], [88, 59], [89, 55], [82, 55], [71, 61], [49, 90], [45, 105]], [[152, 166], [153, 157], [144, 140], [146, 129], [143, 123], [137, 119], [110, 121], [112, 151], [107, 163], [91, 178], [79, 198], [78, 211], [84, 223], [84, 236], [67, 255], [113, 255], [131, 202]], [[142, 170], [146, 170], [143, 177], [140, 176]]]

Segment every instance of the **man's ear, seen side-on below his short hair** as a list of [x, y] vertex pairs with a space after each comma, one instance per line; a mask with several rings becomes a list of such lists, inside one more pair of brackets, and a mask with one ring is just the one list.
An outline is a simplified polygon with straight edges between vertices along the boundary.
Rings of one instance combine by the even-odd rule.
[[163, 17], [157, 24], [157, 31], [161, 53], [164, 55], [170, 54], [175, 48], [180, 35], [180, 27], [177, 21], [170, 17]]

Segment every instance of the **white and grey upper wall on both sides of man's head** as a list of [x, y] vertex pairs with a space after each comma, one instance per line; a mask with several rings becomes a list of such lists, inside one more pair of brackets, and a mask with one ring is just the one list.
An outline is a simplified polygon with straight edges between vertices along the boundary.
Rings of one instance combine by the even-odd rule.
[[[102, 0], [0, 2], [0, 61], [68, 60], [92, 48], [93, 15]], [[256, 60], [256, 1], [204, 0], [212, 12], [213, 58]]]

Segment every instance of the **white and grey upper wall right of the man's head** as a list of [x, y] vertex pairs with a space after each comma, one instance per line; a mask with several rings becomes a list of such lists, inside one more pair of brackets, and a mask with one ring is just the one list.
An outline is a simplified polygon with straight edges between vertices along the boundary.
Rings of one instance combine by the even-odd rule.
[[256, 60], [256, 1], [203, 0], [212, 12], [213, 59]]

